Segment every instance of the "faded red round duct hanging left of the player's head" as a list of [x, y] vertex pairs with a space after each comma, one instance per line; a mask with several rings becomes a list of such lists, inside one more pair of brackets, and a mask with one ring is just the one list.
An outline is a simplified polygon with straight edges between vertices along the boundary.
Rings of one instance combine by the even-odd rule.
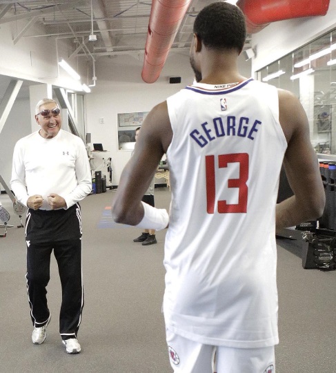
[[168, 52], [192, 0], [153, 0], [141, 77], [146, 83], [159, 78]]

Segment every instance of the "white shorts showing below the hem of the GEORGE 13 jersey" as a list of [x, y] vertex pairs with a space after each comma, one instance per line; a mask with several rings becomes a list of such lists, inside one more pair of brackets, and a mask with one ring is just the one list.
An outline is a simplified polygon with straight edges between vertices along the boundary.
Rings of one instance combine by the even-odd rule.
[[175, 373], [275, 373], [275, 346], [231, 348], [203, 345], [166, 330]]

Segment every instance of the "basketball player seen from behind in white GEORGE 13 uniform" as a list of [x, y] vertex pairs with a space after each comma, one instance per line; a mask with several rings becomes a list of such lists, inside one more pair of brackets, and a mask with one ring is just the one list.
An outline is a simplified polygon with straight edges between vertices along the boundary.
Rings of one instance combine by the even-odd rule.
[[[239, 74], [245, 38], [237, 6], [199, 12], [197, 83], [148, 114], [115, 196], [115, 221], [166, 228], [166, 210], [140, 202], [166, 152], [164, 318], [174, 372], [212, 373], [215, 352], [217, 373], [275, 372], [275, 230], [324, 210], [304, 109], [290, 92]], [[283, 161], [294, 196], [277, 205]]]

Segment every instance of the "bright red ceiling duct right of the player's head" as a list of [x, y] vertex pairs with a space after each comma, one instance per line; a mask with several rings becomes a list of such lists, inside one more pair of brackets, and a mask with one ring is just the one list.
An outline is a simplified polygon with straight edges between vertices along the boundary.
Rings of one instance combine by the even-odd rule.
[[284, 19], [324, 16], [330, 0], [238, 0], [244, 12], [249, 34], [256, 33], [269, 23]]

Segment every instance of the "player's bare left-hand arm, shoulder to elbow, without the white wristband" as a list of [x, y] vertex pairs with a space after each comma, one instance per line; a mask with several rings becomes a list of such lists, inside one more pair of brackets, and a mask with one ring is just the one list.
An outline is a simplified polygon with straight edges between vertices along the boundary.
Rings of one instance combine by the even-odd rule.
[[[135, 152], [121, 173], [112, 204], [112, 216], [117, 223], [137, 225], [144, 218], [141, 199], [171, 139], [172, 129], [165, 101], [155, 106], [141, 125]], [[145, 208], [149, 209], [150, 206]], [[158, 209], [152, 209], [149, 210], [153, 213], [159, 212]], [[148, 226], [148, 229], [151, 227]]]

